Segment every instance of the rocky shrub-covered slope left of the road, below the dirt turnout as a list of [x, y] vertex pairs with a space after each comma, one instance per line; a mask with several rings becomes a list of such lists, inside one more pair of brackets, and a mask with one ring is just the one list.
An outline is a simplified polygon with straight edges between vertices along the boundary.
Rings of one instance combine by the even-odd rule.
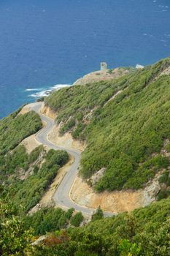
[[39, 146], [28, 155], [24, 146], [18, 146], [0, 161], [1, 183], [15, 204], [27, 212], [39, 203], [68, 159], [66, 151], [46, 152]]

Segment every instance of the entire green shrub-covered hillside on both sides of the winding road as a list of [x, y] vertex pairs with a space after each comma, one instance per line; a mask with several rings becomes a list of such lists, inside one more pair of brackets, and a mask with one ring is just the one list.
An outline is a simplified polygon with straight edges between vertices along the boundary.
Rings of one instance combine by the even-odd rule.
[[104, 218], [98, 208], [88, 223], [73, 208], [42, 208], [29, 215], [69, 155], [44, 146], [28, 154], [19, 145], [42, 127], [33, 111], [18, 116], [18, 110], [0, 121], [0, 255], [170, 256], [170, 75], [161, 75], [168, 67], [165, 59], [46, 99], [58, 124], [62, 121], [61, 135], [69, 131], [86, 140], [82, 177], [107, 167], [96, 191], [139, 189], [163, 170], [158, 199], [168, 198], [131, 213]]

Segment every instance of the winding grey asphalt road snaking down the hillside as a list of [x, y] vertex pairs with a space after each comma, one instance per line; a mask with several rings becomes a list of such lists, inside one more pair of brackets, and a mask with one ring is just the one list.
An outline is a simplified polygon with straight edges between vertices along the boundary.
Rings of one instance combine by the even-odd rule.
[[[77, 203], [74, 203], [74, 201], [70, 197], [70, 191], [72, 189], [72, 185], [74, 184], [74, 180], [78, 173], [78, 167], [80, 165], [81, 152], [75, 150], [74, 148], [71, 149], [56, 146], [47, 139], [47, 135], [50, 130], [53, 129], [55, 121], [52, 118], [49, 118], [40, 113], [39, 110], [41, 108], [42, 102], [36, 102], [34, 104], [31, 104], [31, 110], [34, 110], [36, 113], [38, 113], [40, 118], [42, 119], [42, 122], [45, 122], [46, 124], [45, 127], [43, 127], [39, 132], [36, 133], [36, 140], [39, 143], [48, 146], [49, 148], [53, 148], [55, 150], [65, 150], [74, 157], [74, 162], [71, 165], [70, 170], [66, 173], [63, 180], [61, 181], [61, 184], [58, 186], [58, 189], [55, 191], [55, 194], [53, 195], [53, 200], [55, 201], [56, 205], [60, 206], [61, 208], [74, 208], [76, 211], [81, 211], [82, 214], [91, 215], [96, 209], [80, 206]], [[104, 211], [105, 217], [111, 217], [113, 215], [115, 214], [112, 212]]]

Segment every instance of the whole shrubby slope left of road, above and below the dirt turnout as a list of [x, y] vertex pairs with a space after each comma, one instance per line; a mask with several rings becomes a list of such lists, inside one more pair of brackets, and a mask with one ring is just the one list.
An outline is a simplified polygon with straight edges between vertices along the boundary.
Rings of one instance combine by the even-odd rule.
[[18, 115], [20, 110], [0, 121], [0, 182], [16, 205], [29, 211], [39, 203], [60, 167], [66, 164], [66, 151], [45, 151], [39, 146], [28, 154], [18, 144], [42, 127], [34, 111]]

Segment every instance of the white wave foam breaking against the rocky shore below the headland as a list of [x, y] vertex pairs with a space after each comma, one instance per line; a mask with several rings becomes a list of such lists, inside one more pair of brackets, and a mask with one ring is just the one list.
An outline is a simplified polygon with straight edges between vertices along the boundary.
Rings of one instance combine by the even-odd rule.
[[58, 90], [60, 90], [64, 87], [70, 87], [70, 86], [72, 86], [72, 85], [70, 85], [70, 84], [57, 84], [55, 86], [50, 87], [50, 89], [47, 89], [47, 90], [45, 90], [45, 89], [42, 90], [41, 89], [41, 91], [39, 91], [39, 90], [35, 90], [35, 89], [34, 90], [28, 89], [29, 91], [39, 91], [39, 92], [36, 92], [35, 94], [29, 95], [29, 97], [34, 97], [34, 98], [47, 97], [53, 91], [58, 91]]

